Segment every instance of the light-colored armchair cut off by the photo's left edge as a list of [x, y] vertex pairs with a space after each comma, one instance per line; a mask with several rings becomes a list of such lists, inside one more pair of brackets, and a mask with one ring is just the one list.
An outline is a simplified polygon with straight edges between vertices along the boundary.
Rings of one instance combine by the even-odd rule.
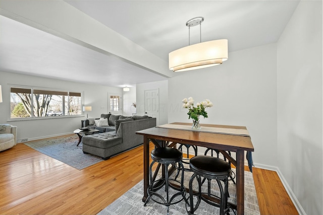
[[17, 144], [17, 126], [0, 124], [0, 152]]

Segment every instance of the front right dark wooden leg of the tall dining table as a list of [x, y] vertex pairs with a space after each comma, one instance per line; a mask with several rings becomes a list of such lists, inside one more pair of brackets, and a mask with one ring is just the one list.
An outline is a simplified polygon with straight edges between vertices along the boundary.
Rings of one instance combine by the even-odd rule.
[[237, 150], [237, 214], [244, 214], [244, 150]]

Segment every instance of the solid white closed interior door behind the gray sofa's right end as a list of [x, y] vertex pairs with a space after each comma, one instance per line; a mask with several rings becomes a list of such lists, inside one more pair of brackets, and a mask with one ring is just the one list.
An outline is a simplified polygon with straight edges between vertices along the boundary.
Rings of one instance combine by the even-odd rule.
[[145, 90], [145, 115], [156, 118], [159, 125], [159, 92], [156, 90]]

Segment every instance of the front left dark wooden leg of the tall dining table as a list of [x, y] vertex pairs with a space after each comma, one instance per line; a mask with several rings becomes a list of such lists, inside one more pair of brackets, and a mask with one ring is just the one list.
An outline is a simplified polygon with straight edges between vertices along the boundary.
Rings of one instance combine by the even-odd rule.
[[149, 138], [143, 136], [143, 197], [145, 202], [148, 198], [147, 189], [149, 186]]

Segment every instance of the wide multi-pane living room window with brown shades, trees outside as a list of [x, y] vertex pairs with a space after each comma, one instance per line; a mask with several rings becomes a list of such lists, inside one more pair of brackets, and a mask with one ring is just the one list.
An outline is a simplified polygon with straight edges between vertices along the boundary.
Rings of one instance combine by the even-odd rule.
[[12, 87], [10, 94], [10, 118], [82, 114], [81, 93]]

